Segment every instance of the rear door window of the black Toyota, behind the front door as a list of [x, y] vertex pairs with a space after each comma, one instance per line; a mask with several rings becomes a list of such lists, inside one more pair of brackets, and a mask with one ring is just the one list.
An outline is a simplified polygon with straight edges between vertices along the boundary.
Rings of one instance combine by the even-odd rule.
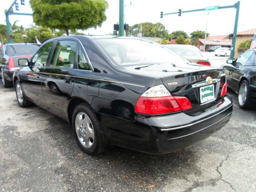
[[60, 40], [54, 49], [51, 67], [73, 68], [76, 61], [76, 41]]

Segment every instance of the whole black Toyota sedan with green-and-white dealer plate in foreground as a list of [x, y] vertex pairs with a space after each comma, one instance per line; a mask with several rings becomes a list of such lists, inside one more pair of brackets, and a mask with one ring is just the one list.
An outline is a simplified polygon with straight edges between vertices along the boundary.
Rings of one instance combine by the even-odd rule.
[[221, 68], [190, 63], [156, 42], [59, 37], [19, 64], [18, 104], [70, 122], [87, 154], [108, 145], [166, 154], [207, 138], [232, 114]]

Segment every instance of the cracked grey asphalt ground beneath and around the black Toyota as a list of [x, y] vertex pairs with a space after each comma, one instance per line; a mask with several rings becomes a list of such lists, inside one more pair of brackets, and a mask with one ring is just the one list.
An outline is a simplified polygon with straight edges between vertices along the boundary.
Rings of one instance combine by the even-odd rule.
[[228, 94], [230, 122], [191, 148], [150, 155], [114, 147], [93, 157], [70, 124], [38, 106], [20, 108], [14, 89], [0, 84], [0, 191], [255, 192], [256, 111]]

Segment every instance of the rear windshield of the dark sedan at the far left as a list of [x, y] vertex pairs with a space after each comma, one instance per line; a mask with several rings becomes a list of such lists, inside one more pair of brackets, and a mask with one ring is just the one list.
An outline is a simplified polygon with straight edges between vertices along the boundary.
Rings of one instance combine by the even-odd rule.
[[39, 45], [8, 45], [6, 54], [13, 55], [33, 55], [38, 49]]

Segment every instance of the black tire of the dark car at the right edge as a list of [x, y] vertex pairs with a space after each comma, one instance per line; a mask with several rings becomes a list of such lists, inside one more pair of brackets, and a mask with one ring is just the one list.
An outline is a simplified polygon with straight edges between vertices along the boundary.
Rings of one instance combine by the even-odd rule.
[[[244, 88], [246, 89], [246, 93], [244, 94], [246, 98], [242, 94], [244, 92], [243, 91]], [[238, 90], [238, 104], [239, 104], [239, 107], [242, 109], [253, 108], [253, 104], [251, 102], [250, 92], [249, 92], [249, 84], [246, 80], [243, 80], [240, 83], [239, 90]]]

